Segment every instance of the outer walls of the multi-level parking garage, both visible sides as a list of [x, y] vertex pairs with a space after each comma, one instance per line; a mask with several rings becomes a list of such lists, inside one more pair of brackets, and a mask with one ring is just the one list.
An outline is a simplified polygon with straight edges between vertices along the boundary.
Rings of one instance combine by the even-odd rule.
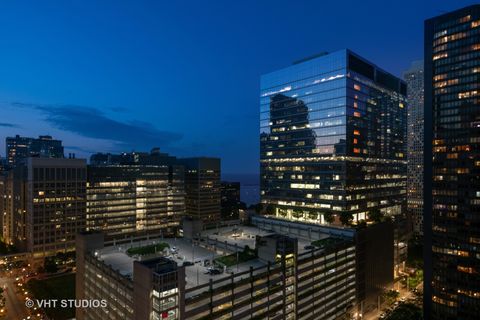
[[[97, 234], [78, 237], [83, 244], [77, 242], [76, 298], [107, 299], [107, 307], [79, 308], [78, 319], [333, 320], [355, 312], [351, 241], [331, 240], [305, 251], [297, 239], [270, 232], [254, 240], [258, 258], [211, 276], [204, 275], [202, 264], [182, 266], [171, 257], [139, 261], [127, 257], [125, 247], [104, 246], [101, 240]], [[180, 241], [188, 255], [183, 250], [193, 245]]]

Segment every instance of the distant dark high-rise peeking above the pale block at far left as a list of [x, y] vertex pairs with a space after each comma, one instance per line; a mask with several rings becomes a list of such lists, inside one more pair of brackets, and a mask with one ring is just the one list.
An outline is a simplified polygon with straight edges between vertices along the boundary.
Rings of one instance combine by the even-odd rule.
[[10, 166], [15, 166], [19, 160], [28, 157], [63, 158], [62, 141], [51, 136], [38, 138], [7, 137], [5, 139], [6, 157]]

